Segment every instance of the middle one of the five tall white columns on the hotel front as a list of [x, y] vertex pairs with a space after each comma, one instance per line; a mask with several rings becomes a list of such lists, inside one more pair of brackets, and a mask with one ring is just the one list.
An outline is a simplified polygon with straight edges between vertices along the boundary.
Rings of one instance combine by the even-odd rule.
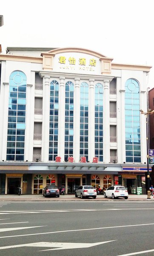
[[80, 78], [75, 78], [74, 91], [74, 162], [80, 162]]

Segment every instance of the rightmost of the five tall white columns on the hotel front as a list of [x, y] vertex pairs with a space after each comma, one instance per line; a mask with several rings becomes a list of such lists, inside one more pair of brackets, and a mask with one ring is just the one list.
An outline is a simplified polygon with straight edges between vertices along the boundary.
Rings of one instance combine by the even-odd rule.
[[110, 101], [109, 80], [104, 80], [103, 102], [103, 162], [110, 162]]

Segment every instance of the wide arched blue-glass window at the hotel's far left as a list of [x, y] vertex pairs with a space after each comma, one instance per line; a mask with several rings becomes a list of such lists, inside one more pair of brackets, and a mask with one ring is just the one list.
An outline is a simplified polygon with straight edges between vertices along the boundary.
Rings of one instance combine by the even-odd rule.
[[14, 71], [9, 79], [9, 110], [6, 160], [24, 161], [26, 129], [26, 75]]

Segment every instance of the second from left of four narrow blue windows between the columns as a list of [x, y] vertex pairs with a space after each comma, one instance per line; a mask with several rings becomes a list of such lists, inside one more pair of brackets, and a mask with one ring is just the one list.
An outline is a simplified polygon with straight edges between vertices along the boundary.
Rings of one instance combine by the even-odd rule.
[[64, 159], [73, 157], [73, 117], [74, 116], [74, 84], [68, 81], [65, 85], [65, 152]]

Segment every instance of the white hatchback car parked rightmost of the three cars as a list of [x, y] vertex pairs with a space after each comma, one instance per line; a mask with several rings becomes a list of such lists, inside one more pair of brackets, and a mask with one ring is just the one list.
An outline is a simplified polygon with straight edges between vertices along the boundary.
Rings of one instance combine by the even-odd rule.
[[104, 197], [111, 197], [113, 199], [123, 197], [128, 199], [128, 191], [124, 186], [110, 186], [104, 191]]

